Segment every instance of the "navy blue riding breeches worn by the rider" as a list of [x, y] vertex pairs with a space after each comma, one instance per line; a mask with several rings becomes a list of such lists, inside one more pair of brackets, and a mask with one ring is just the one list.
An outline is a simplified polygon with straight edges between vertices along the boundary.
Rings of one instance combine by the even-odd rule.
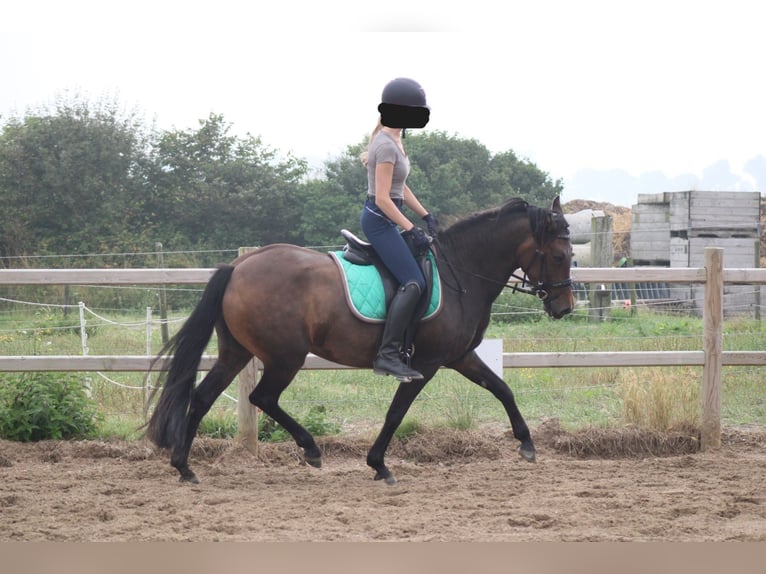
[[[401, 205], [397, 206], [401, 209]], [[359, 219], [367, 240], [372, 243], [383, 264], [399, 280], [399, 284], [417, 283], [422, 293], [426, 288], [423, 272], [402, 239], [396, 224], [375, 205], [373, 198], [365, 201]]]

